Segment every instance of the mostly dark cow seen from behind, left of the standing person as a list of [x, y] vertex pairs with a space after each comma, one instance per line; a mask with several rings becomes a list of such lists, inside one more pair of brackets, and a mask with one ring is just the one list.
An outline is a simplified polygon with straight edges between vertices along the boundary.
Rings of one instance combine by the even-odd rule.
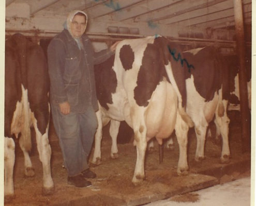
[[43, 194], [54, 190], [51, 177], [51, 147], [48, 140], [50, 106], [47, 61], [41, 47], [20, 34], [5, 42], [5, 199], [14, 196], [13, 166], [18, 138], [24, 153], [26, 176], [34, 176], [28, 151], [32, 147], [31, 130], [36, 133], [37, 149], [43, 167]]

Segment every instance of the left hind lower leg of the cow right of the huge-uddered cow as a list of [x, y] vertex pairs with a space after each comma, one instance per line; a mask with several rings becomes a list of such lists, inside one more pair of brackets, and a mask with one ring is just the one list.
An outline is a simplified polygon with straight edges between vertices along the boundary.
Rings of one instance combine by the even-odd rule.
[[195, 151], [194, 159], [197, 162], [205, 159], [204, 144], [207, 126], [208, 124], [206, 121], [201, 121], [201, 123], [195, 123], [194, 125], [195, 135], [197, 135], [197, 150]]

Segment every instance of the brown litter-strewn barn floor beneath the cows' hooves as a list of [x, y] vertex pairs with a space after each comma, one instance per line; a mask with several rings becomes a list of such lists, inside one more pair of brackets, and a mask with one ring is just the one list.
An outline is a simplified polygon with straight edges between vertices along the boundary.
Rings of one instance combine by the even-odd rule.
[[[250, 179], [250, 152], [242, 153], [240, 149], [239, 113], [230, 112], [229, 115], [231, 119], [230, 148], [232, 155], [229, 164], [219, 163], [221, 144], [216, 143], [215, 140], [210, 138], [206, 140], [206, 160], [203, 162], [195, 162], [193, 158], [196, 138], [193, 129], [191, 129], [189, 131], [188, 140], [189, 175], [177, 176], [176, 174], [178, 145], [176, 139], [174, 139], [174, 150], [164, 149], [162, 164], [159, 164], [158, 161], [158, 147], [152, 152], [147, 152], [145, 160], [146, 179], [138, 186], [134, 186], [131, 183], [136, 160], [136, 150], [132, 145], [132, 141], [126, 144], [118, 144], [119, 158], [115, 160], [111, 159], [111, 139], [108, 134], [108, 127], [104, 128], [103, 131], [102, 164], [97, 167], [92, 167], [92, 170], [97, 174], [97, 178], [91, 180], [93, 186], [88, 188], [76, 188], [68, 185], [67, 173], [65, 168], [62, 167], [62, 153], [51, 125], [49, 139], [52, 147], [51, 168], [55, 185], [54, 194], [50, 196], [41, 195], [42, 166], [38, 159], [36, 147], [34, 147], [31, 152], [36, 175], [31, 178], [24, 177], [23, 156], [17, 144], [16, 153], [19, 157], [16, 158], [14, 168], [14, 189], [16, 197], [9, 202], [5, 202], [5, 205], [112, 206], [144, 205], [147, 203], [149, 203], [149, 205], [158, 205], [157, 203], [159, 202], [156, 201], [179, 197], [182, 197], [182, 199], [185, 198], [185, 201], [188, 199], [186, 202], [186, 205], [188, 205], [188, 202], [200, 200], [197, 194], [201, 197], [201, 193], [194, 193], [194, 191], [199, 191], [214, 185], [224, 186], [225, 184], [219, 184], [231, 182], [242, 177]], [[215, 134], [215, 126], [211, 124], [210, 128], [213, 134]], [[247, 184], [247, 186], [249, 185]], [[186, 197], [186, 195], [188, 197]], [[154, 204], [154, 202], [156, 203]], [[215, 202], [214, 199], [213, 202]], [[159, 205], [161, 204], [159, 203]], [[171, 205], [173, 205], [173, 202]]]

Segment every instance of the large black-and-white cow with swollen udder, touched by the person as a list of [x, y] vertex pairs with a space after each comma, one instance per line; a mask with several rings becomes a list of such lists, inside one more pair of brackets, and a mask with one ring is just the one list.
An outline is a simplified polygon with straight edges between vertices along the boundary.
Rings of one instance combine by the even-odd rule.
[[[171, 54], [170, 48], [176, 54]], [[185, 69], [178, 45], [163, 37], [124, 40], [117, 45], [115, 56], [96, 66], [100, 111], [92, 163], [100, 163], [102, 125], [111, 120], [110, 134], [115, 138], [111, 156], [114, 157], [119, 121], [125, 120], [134, 131], [137, 146], [134, 184], [145, 177], [147, 141], [156, 137], [162, 144], [162, 139], [168, 138], [174, 128], [180, 146], [177, 171], [179, 174], [187, 171], [187, 136], [183, 127], [187, 126], [186, 122], [191, 124], [191, 119], [185, 113]]]

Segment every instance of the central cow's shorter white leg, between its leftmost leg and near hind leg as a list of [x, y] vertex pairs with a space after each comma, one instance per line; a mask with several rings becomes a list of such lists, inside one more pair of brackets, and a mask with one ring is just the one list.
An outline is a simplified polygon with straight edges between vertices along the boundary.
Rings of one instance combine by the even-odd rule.
[[110, 121], [110, 128], [109, 128], [109, 133], [112, 138], [112, 146], [111, 146], [111, 153], [110, 156], [112, 159], [118, 158], [118, 149], [117, 149], [117, 134], [118, 134], [118, 129], [120, 126], [119, 121], [115, 121], [111, 119]]

